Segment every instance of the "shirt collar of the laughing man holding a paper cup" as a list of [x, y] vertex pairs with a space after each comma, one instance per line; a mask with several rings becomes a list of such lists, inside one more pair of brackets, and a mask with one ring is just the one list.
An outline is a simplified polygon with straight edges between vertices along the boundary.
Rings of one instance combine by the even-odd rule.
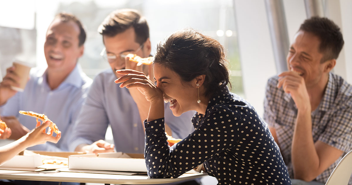
[[[43, 72], [38, 73], [38, 76], [40, 76], [42, 82], [48, 83], [46, 81], [46, 75], [48, 73], [48, 69], [46, 69]], [[76, 64], [76, 67], [71, 71], [71, 73], [67, 76], [67, 78], [60, 84], [60, 86], [64, 85], [64, 84], [68, 84], [68, 85], [73, 85], [77, 88], [82, 86], [82, 75], [83, 74], [83, 70], [81, 68], [80, 64]], [[59, 86], [59, 87], [60, 87]]]

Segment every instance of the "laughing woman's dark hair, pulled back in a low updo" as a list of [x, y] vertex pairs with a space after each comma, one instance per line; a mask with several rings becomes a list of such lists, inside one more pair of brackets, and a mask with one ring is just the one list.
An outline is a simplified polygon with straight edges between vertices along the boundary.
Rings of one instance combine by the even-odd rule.
[[172, 33], [157, 45], [155, 64], [168, 67], [189, 82], [205, 75], [205, 95], [213, 95], [230, 84], [224, 47], [215, 39], [193, 29]]

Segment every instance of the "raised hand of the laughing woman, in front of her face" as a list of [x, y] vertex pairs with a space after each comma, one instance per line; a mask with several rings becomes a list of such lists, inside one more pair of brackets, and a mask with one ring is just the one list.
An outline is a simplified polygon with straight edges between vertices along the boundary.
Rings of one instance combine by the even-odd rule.
[[148, 101], [163, 101], [163, 92], [144, 73], [132, 69], [117, 70], [116, 73], [124, 75], [115, 80], [116, 84], [122, 83], [121, 88], [138, 88]]

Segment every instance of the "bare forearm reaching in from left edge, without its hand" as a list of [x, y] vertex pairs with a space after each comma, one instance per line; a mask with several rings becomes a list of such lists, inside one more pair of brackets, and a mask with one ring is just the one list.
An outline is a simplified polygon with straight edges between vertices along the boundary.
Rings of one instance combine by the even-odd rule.
[[27, 143], [25, 137], [21, 137], [10, 144], [0, 147], [0, 165], [4, 164], [29, 146], [30, 145]]

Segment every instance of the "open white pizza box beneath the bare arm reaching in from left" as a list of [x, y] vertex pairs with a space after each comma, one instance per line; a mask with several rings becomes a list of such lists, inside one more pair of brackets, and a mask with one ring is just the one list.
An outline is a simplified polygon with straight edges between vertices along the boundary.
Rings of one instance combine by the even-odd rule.
[[67, 165], [43, 164], [44, 160], [60, 160], [67, 162], [69, 155], [83, 154], [82, 152], [47, 152], [24, 150], [19, 155], [0, 166], [0, 169], [21, 170], [21, 171], [44, 171], [48, 169], [58, 169]]

